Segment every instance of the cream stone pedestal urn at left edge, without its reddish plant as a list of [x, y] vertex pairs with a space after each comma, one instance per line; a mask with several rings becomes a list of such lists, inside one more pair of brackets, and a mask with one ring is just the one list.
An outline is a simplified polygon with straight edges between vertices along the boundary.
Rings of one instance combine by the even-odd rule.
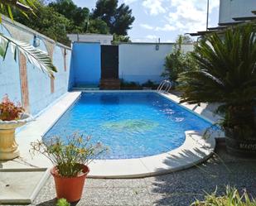
[[0, 120], [0, 160], [12, 160], [20, 156], [17, 142], [15, 141], [15, 129], [31, 122], [32, 117], [23, 113], [20, 119], [12, 121]]

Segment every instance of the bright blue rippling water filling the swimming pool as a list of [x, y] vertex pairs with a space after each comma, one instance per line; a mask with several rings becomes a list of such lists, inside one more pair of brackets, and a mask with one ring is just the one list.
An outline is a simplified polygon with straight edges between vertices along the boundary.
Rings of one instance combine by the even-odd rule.
[[125, 159], [171, 151], [185, 131], [210, 126], [157, 93], [82, 93], [44, 138], [82, 132], [109, 147], [105, 159]]

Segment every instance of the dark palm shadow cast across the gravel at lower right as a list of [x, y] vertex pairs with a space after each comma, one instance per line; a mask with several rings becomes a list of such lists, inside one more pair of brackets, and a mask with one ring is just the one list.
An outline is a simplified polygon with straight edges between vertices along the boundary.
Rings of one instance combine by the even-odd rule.
[[[177, 159], [186, 160], [191, 156], [185, 151], [184, 156], [171, 156], [166, 164]], [[225, 193], [225, 186], [236, 187], [239, 191], [246, 189], [256, 197], [256, 160], [239, 159], [229, 156], [224, 147], [218, 147], [216, 154], [205, 164], [195, 165], [191, 169], [173, 172], [170, 175], [154, 177], [150, 189], [155, 199], [153, 205], [190, 205], [195, 199], [203, 199], [205, 193]]]

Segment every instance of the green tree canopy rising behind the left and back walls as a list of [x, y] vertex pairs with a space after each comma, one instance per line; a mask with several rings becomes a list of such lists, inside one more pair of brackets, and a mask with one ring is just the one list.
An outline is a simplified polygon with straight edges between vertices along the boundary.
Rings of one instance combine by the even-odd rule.
[[70, 45], [68, 33], [114, 34], [117, 42], [129, 40], [127, 33], [134, 17], [125, 4], [118, 7], [118, 0], [98, 0], [92, 12], [87, 7], [78, 7], [72, 0], [35, 0], [34, 3], [37, 7], [34, 14], [27, 17], [16, 9], [14, 19], [67, 46]]

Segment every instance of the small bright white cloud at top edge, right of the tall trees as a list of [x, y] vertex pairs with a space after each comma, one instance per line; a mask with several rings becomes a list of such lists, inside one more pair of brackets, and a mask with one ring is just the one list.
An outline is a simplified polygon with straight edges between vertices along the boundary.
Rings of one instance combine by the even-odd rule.
[[145, 7], [150, 15], [165, 13], [167, 10], [162, 6], [164, 0], [144, 0], [142, 6]]

